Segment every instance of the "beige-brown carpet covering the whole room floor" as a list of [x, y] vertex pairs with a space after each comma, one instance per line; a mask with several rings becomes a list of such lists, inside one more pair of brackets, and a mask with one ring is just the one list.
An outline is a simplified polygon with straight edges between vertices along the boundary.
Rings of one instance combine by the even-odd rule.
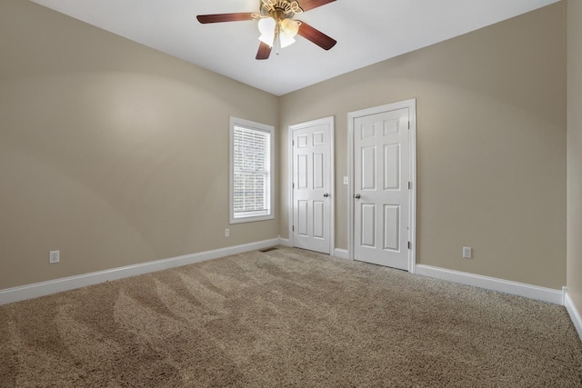
[[279, 247], [0, 306], [0, 386], [582, 386], [564, 307]]

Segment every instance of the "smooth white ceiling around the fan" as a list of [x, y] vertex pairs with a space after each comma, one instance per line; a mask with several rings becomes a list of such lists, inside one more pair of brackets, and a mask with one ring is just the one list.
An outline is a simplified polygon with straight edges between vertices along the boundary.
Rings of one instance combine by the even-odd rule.
[[[255, 59], [256, 21], [201, 25], [196, 15], [257, 12], [259, 0], [33, 0], [273, 95], [463, 35], [559, 0], [336, 0], [296, 15], [337, 40], [325, 51], [297, 36]], [[301, 3], [301, 0], [299, 0]]]

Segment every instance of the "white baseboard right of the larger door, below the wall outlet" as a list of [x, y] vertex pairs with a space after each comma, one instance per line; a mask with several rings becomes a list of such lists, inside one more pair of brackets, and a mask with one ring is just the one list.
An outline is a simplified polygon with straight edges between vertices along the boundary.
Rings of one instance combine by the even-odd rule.
[[501, 293], [511, 293], [514, 295], [525, 296], [527, 298], [536, 299], [538, 301], [563, 304], [562, 291], [554, 290], [552, 288], [511, 282], [508, 280], [497, 279], [495, 277], [482, 276], [478, 274], [468, 274], [423, 264], [416, 265], [416, 274], [434, 277], [442, 280], [448, 280], [450, 282], [460, 284], [473, 285], [476, 287], [486, 288], [487, 290], [498, 291]]

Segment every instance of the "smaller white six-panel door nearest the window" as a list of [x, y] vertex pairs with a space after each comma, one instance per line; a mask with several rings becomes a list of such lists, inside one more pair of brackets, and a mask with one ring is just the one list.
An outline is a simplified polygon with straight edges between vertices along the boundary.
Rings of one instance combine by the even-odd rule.
[[330, 254], [332, 232], [333, 117], [291, 125], [293, 245]]

